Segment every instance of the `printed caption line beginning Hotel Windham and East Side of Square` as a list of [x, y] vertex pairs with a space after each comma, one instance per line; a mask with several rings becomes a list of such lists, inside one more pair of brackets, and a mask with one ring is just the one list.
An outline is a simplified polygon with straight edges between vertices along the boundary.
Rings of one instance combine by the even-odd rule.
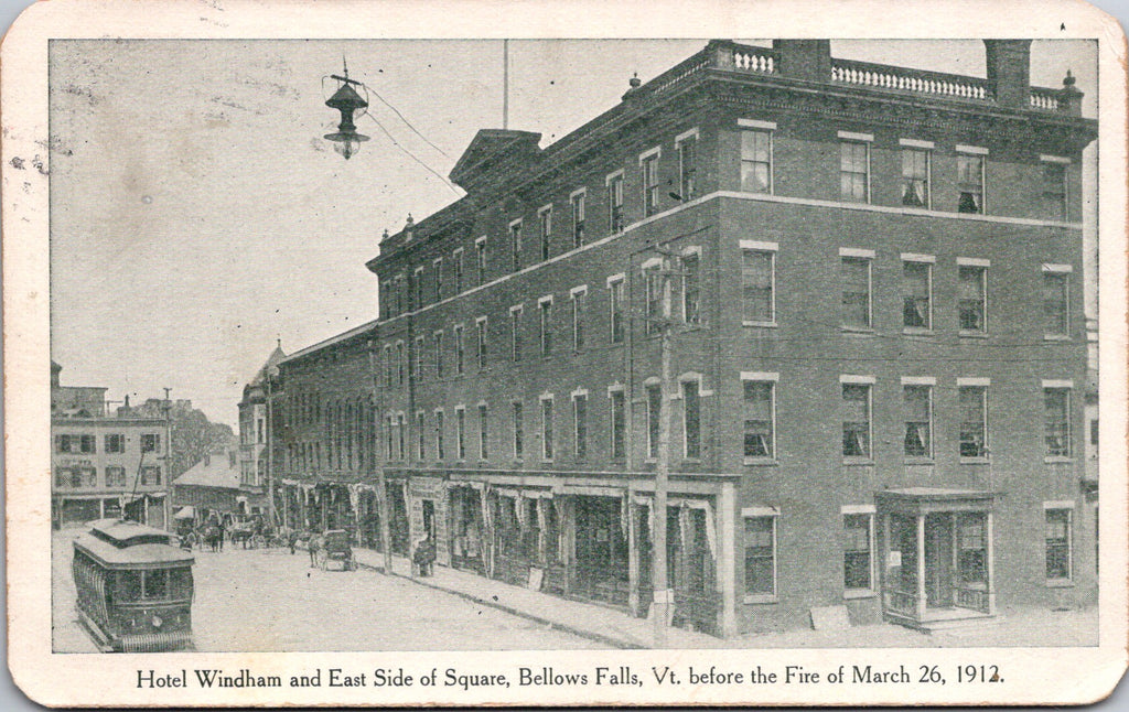
[[839, 665], [813, 668], [803, 665], [752, 666], [745, 669], [709, 667], [592, 668], [514, 667], [496, 673], [458, 668], [315, 668], [280, 675], [247, 668], [137, 671], [139, 688], [473, 688], [568, 686], [732, 686], [732, 685], [945, 685], [1003, 683], [995, 665]]

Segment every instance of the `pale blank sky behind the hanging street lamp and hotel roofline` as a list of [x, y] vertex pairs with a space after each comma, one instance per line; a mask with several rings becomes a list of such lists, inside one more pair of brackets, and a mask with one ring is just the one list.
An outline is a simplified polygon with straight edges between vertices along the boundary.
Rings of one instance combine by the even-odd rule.
[[[614, 106], [633, 73], [704, 43], [511, 41], [509, 128], [548, 146]], [[984, 74], [980, 41], [833, 41], [832, 54]], [[375, 91], [357, 120], [371, 140], [349, 161], [321, 138], [339, 118], [323, 79], [343, 60]], [[53, 41], [50, 61], [62, 383], [106, 386], [112, 402], [167, 386], [233, 425], [277, 339], [292, 353], [376, 317], [365, 262], [380, 234], [462, 195], [435, 174], [502, 123], [500, 41]], [[1094, 46], [1033, 44], [1033, 85], [1060, 87], [1067, 69], [1095, 116]]]

